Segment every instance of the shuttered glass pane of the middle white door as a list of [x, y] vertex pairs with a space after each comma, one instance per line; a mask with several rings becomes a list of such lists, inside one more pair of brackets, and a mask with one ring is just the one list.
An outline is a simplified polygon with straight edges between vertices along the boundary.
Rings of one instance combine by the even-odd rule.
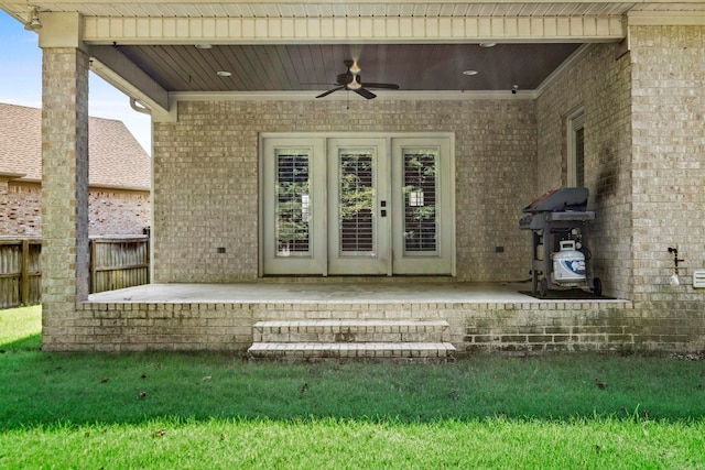
[[375, 187], [369, 152], [339, 152], [339, 247], [346, 254], [375, 252]]

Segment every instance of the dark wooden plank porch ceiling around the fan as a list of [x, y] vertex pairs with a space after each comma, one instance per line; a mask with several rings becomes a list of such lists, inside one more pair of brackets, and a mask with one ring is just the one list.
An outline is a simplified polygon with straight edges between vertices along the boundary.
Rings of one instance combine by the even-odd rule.
[[[292, 44], [117, 46], [169, 91], [297, 91], [333, 87], [359, 57], [365, 83], [402, 90], [534, 89], [579, 44]], [[110, 47], [110, 46], [102, 46]], [[476, 70], [476, 75], [463, 74]], [[223, 77], [218, 72], [231, 75]]]

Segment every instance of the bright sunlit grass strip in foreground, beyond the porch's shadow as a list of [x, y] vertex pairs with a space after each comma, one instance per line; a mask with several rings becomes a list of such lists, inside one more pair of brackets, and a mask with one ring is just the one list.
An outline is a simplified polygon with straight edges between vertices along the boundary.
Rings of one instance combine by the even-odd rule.
[[702, 468], [704, 433], [617, 419], [161, 419], [11, 430], [0, 452], [6, 468]]

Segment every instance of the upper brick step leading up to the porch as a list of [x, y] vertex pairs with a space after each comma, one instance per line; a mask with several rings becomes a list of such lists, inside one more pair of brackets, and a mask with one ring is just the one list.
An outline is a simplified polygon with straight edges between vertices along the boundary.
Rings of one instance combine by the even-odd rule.
[[254, 324], [254, 342], [443, 342], [446, 320], [288, 320]]

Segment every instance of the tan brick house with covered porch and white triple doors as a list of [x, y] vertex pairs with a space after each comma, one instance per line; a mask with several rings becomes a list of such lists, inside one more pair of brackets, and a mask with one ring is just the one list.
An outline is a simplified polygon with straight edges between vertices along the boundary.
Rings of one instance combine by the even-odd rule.
[[[705, 348], [705, 3], [33, 4], [46, 350], [245, 351], [260, 319], [356, 315], [445, 319], [460, 351]], [[523, 280], [522, 208], [579, 184], [620, 300], [90, 302], [89, 69], [152, 113], [155, 283]]]

